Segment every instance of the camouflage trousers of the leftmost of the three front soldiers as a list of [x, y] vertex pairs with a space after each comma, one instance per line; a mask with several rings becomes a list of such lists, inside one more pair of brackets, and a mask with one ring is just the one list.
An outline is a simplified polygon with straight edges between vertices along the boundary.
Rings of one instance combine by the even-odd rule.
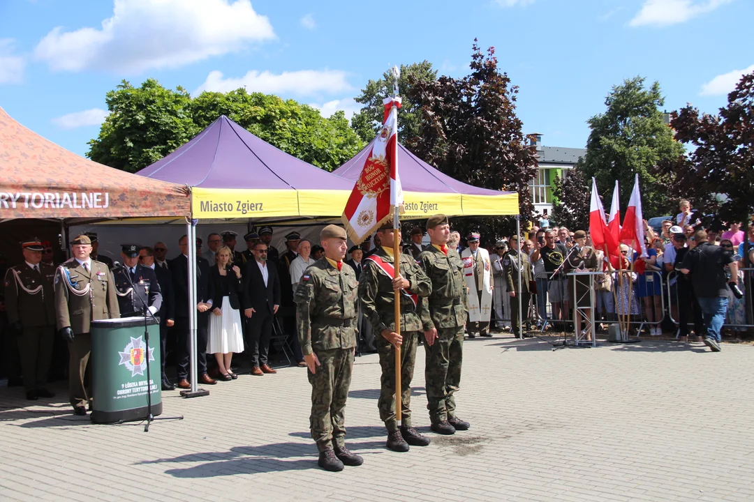
[[311, 439], [320, 452], [345, 444], [345, 400], [351, 387], [353, 348], [314, 351], [320, 366], [317, 373], [307, 370], [311, 384]]

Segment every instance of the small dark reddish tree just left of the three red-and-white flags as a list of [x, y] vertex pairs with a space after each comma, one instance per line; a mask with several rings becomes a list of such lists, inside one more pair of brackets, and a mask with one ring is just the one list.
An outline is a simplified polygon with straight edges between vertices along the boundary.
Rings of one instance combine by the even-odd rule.
[[591, 189], [578, 169], [555, 177], [553, 183], [553, 221], [570, 230], [589, 230]]

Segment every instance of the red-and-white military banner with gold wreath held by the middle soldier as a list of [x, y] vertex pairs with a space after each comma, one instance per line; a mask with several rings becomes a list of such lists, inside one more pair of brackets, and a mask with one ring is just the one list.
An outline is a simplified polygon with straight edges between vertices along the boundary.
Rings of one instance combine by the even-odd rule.
[[343, 210], [345, 230], [355, 244], [363, 242], [385, 221], [391, 221], [395, 208], [403, 213], [403, 190], [397, 169], [400, 97], [386, 98], [384, 104], [382, 130]]

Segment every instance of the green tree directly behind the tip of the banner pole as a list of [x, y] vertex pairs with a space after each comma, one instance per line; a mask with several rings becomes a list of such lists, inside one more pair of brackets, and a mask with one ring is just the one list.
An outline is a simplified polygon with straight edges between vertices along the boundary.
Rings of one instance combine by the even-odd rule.
[[[400, 108], [400, 120], [398, 120], [400, 141], [403, 141], [403, 138], [412, 138], [419, 132], [421, 112], [411, 97], [413, 83], [434, 81], [435, 79], [437, 79], [437, 70], [432, 69], [432, 63], [427, 60], [410, 65], [400, 65], [398, 91], [403, 99]], [[379, 80], [369, 80], [366, 87], [361, 90], [360, 96], [354, 98], [354, 101], [364, 106], [359, 113], [351, 117], [351, 128], [366, 143], [372, 141], [379, 134], [379, 124], [382, 124], [383, 111], [385, 110], [382, 99], [392, 96], [392, 93], [393, 80], [390, 71], [385, 71]]]

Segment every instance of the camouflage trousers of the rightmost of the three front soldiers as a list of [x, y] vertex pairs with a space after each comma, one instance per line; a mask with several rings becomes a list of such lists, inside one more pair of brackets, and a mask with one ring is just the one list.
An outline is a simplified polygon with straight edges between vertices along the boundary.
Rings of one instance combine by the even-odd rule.
[[455, 418], [455, 391], [461, 384], [464, 327], [437, 330], [432, 345], [425, 343], [427, 409], [433, 424]]

